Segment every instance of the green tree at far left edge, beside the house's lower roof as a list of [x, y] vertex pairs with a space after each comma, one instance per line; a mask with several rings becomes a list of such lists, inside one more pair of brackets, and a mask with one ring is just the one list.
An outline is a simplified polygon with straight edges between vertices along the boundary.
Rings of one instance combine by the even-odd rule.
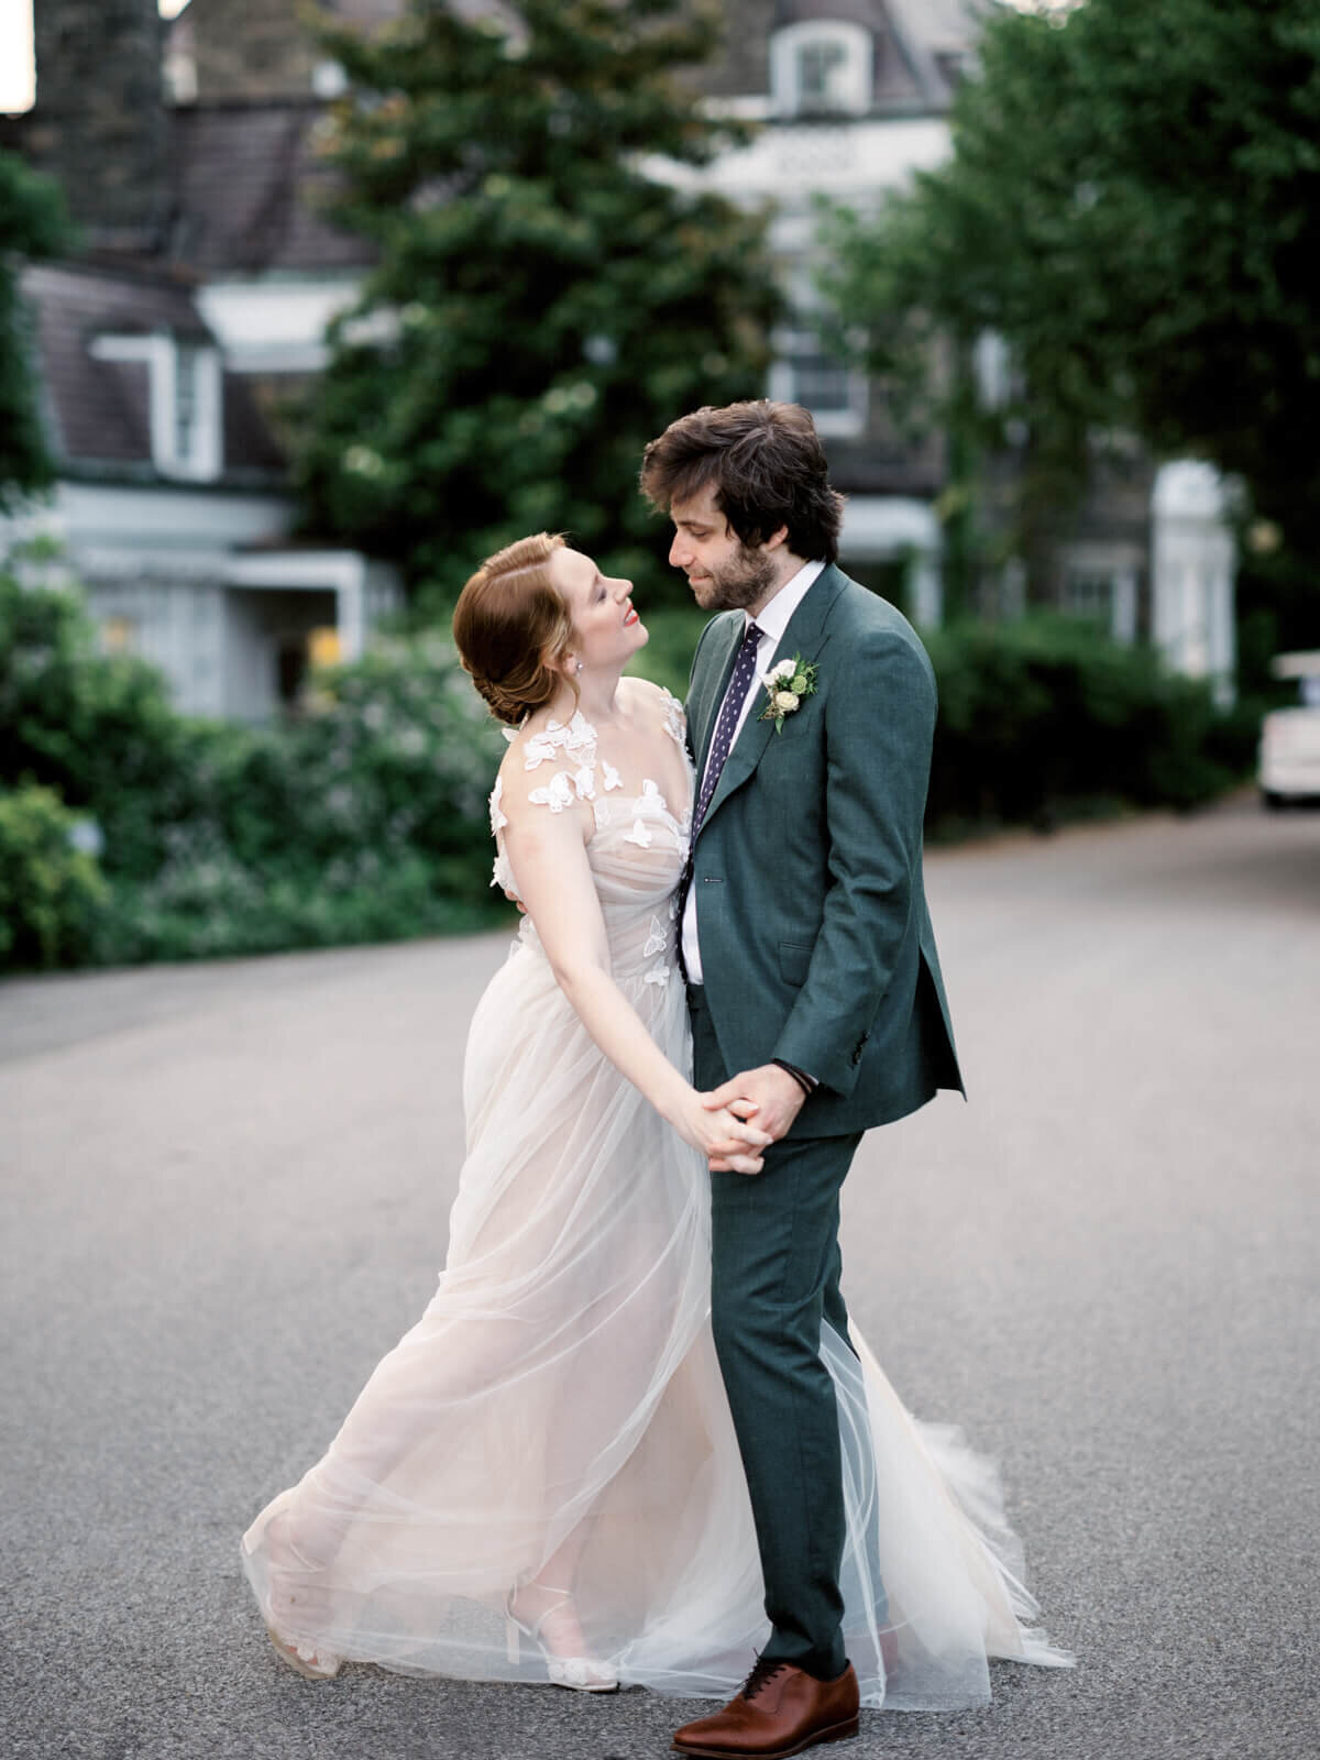
[[0, 514], [51, 480], [18, 275], [25, 257], [51, 257], [67, 243], [56, 185], [0, 153]]

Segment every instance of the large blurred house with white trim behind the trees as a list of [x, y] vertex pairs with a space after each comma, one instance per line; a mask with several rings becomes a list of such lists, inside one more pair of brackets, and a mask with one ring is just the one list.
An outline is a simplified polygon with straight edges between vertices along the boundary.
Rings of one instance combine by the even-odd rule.
[[[400, 4], [331, 9], [375, 30]], [[723, 0], [723, 53], [693, 77], [711, 106], [762, 127], [700, 172], [656, 165], [773, 204], [796, 320], [776, 338], [767, 392], [811, 408], [827, 440], [847, 495], [847, 567], [926, 625], [942, 614], [943, 445], [908, 444], [876, 387], [822, 352], [815, 204], [864, 211], [947, 157], [989, 4]], [[164, 35], [155, 5], [37, 0], [39, 95], [18, 144], [63, 178], [100, 241], [77, 264], [26, 276], [65, 470], [44, 517], [107, 641], [160, 658], [188, 708], [268, 715], [296, 688], [310, 642], [352, 655], [400, 604], [380, 565], [297, 547], [278, 445], [282, 392], [320, 368], [326, 324], [354, 299], [371, 250], [319, 202], [319, 130], [343, 76], [294, 0], [190, 0]], [[998, 356], [987, 338], [982, 366]], [[1223, 491], [1202, 466], [1155, 477], [1142, 459], [1130, 475], [1098, 482], [1061, 530], [1049, 597], [1119, 639], [1151, 635], [1176, 667], [1227, 688]], [[1001, 609], [1019, 581], [1010, 565]]]

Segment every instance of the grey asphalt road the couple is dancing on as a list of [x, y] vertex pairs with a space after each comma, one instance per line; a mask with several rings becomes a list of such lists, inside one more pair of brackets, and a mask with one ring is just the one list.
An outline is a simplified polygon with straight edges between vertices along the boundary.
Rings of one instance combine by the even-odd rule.
[[[854, 1318], [998, 1456], [1072, 1674], [857, 1760], [1320, 1751], [1320, 815], [935, 854], [972, 1104], [873, 1132]], [[0, 1755], [660, 1756], [646, 1693], [333, 1684], [238, 1536], [444, 1257], [505, 936], [0, 986]]]

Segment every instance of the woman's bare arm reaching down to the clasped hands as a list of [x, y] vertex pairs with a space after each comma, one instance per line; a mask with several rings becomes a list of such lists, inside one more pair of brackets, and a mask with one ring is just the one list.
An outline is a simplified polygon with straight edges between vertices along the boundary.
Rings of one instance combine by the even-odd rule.
[[685, 1142], [706, 1156], [722, 1156], [737, 1172], [757, 1172], [760, 1156], [755, 1151], [771, 1139], [727, 1107], [708, 1111], [614, 982], [605, 920], [586, 859], [586, 810], [570, 806], [551, 813], [544, 806], [526, 806], [519, 783], [521, 776], [503, 797], [505, 855], [560, 989], [611, 1063]]

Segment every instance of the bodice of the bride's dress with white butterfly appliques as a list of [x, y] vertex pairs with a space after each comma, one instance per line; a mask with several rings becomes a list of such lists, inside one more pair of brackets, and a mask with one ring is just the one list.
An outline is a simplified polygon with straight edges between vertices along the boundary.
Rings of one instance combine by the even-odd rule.
[[[681, 813], [671, 810], [651, 776], [642, 778], [635, 794], [627, 792], [616, 766], [602, 757], [597, 730], [581, 709], [567, 725], [549, 722], [523, 746], [523, 767], [537, 773], [530, 803], [551, 813], [579, 801], [590, 804], [593, 831], [586, 852], [609, 931], [614, 975], [653, 986], [667, 984], [676, 963], [674, 889], [686, 861], [692, 822], [693, 771], [683, 709], [669, 692], [664, 730], [683, 752], [688, 799]], [[503, 778], [496, 778], [491, 794], [496, 841], [491, 884], [517, 898], [502, 836], [509, 824], [503, 794]], [[535, 945], [535, 929], [526, 917], [519, 938]]]

